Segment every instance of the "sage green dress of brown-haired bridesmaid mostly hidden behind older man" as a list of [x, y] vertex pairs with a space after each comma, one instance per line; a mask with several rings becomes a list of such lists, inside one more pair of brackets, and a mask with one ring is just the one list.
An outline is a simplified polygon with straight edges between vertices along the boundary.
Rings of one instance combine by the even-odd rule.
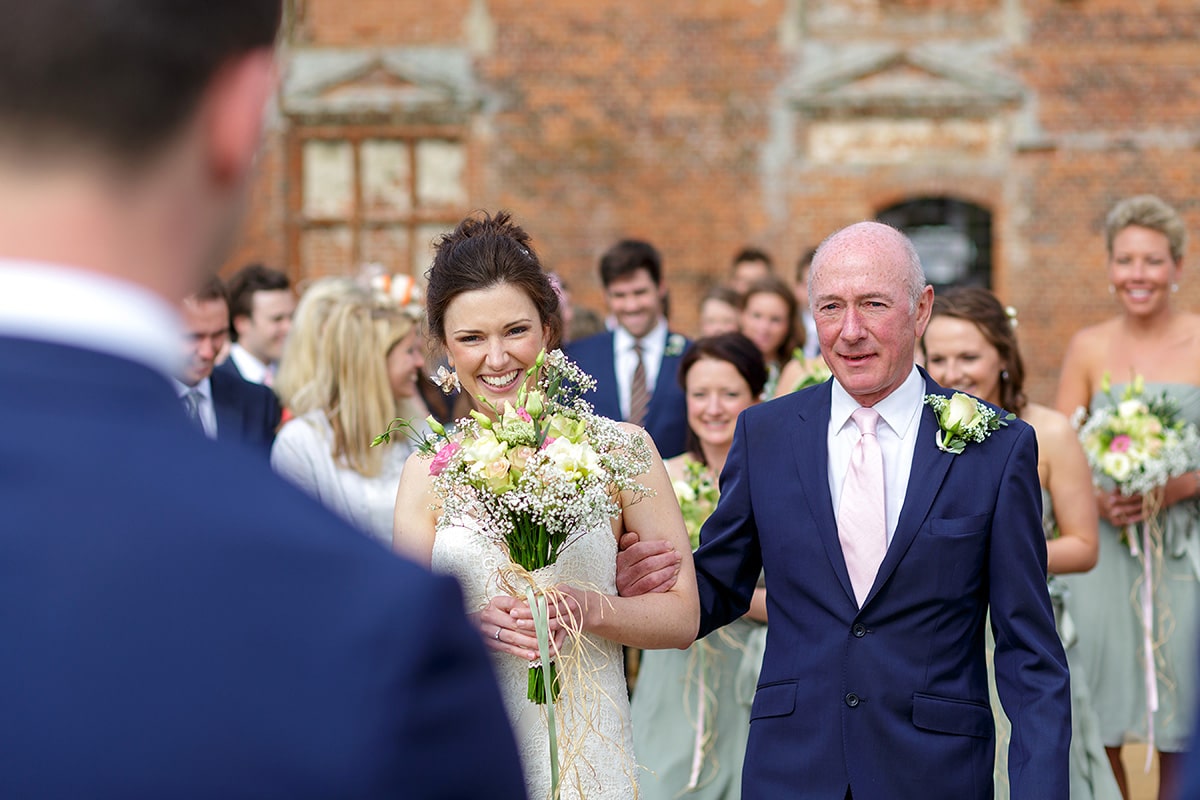
[[[1050, 493], [1045, 489], [1042, 489], [1042, 528], [1046, 533], [1046, 539], [1054, 536], [1054, 507]], [[1121, 800], [1121, 789], [1117, 788], [1112, 768], [1104, 753], [1104, 742], [1088, 694], [1087, 679], [1079, 664], [1075, 624], [1067, 610], [1067, 607], [1074, 607], [1074, 603], [1068, 601], [1062, 577], [1050, 576], [1049, 589], [1058, 638], [1062, 639], [1062, 646], [1067, 651], [1067, 667], [1070, 670], [1070, 800]], [[996, 717], [996, 800], [1008, 800], [1008, 742], [1012, 739], [1013, 726], [996, 694], [996, 673], [991, 663], [994, 650], [995, 642], [989, 625], [988, 680], [991, 690], [991, 710]]]

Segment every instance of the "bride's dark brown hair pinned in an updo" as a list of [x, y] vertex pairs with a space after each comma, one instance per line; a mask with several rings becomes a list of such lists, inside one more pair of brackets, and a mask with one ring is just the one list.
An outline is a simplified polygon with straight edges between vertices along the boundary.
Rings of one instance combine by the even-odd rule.
[[563, 315], [558, 293], [529, 242], [529, 234], [512, 222], [508, 211], [493, 217], [487, 212], [472, 215], [434, 245], [433, 265], [425, 273], [425, 314], [433, 335], [445, 345], [446, 308], [458, 295], [476, 289], [510, 284], [533, 301], [541, 324], [550, 336], [546, 349], [563, 338]]

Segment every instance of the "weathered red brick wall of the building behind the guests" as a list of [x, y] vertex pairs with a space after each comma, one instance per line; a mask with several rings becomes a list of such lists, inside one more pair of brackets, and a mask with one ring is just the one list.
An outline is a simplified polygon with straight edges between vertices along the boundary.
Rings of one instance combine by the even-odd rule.
[[[948, 196], [992, 215], [992, 285], [1020, 311], [1031, 395], [1050, 401], [1070, 333], [1115, 312], [1109, 206], [1154, 192], [1200, 235], [1194, 0], [295, 0], [292, 12], [287, 52], [318, 79], [284, 83], [230, 266], [263, 259], [304, 279], [353, 271], [358, 252], [409, 271], [426, 242], [404, 231], [427, 240], [449, 216], [506, 207], [593, 306], [599, 254], [620, 236], [655, 242], [673, 321], [690, 330], [743, 245], [790, 270], [842, 224]], [[350, 61], [320, 66], [335, 50]], [[346, 67], [355, 52], [379, 58]], [[413, 197], [433, 205], [406, 205], [408, 172], [391, 158], [394, 227], [370, 221], [376, 191], [359, 199], [361, 230], [301, 235], [322, 188], [289, 154], [318, 125], [433, 137], [442, 155], [413, 167]], [[466, 154], [462, 169], [446, 152]], [[439, 188], [439, 170], [458, 185]], [[1200, 307], [1200, 281], [1189, 270], [1182, 283], [1178, 305]]]

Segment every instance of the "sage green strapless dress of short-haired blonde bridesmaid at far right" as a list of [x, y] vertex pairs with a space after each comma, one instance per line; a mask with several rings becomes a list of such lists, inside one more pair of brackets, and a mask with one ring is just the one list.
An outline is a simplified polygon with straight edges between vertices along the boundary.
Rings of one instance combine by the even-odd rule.
[[[1121, 396], [1123, 387], [1114, 386]], [[1146, 393], [1166, 392], [1181, 416], [1200, 423], [1200, 387], [1146, 384]], [[1108, 404], [1097, 396], [1093, 408]], [[1200, 459], [1198, 459], [1200, 463]], [[1193, 464], [1198, 465], [1198, 464]], [[1162, 548], [1153, 567], [1153, 634], [1159, 706], [1154, 746], [1187, 748], [1196, 700], [1196, 625], [1200, 602], [1200, 505], [1176, 504], [1158, 515]], [[1139, 535], [1140, 540], [1140, 535]], [[1146, 669], [1142, 645], [1142, 560], [1129, 552], [1122, 531], [1100, 521], [1100, 559], [1096, 569], [1062, 576], [1079, 632], [1076, 661], [1082, 666], [1105, 745], [1146, 741]]]

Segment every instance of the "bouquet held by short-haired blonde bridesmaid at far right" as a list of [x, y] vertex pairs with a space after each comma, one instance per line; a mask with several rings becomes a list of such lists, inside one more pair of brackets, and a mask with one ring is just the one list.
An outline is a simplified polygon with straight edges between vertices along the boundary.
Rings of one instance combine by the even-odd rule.
[[1092, 411], [1079, 438], [1102, 489], [1145, 495], [1192, 468], [1200, 435], [1180, 419], [1178, 407], [1166, 395], [1147, 397], [1140, 375], [1120, 399], [1112, 395], [1108, 374], [1100, 391], [1111, 405]]

